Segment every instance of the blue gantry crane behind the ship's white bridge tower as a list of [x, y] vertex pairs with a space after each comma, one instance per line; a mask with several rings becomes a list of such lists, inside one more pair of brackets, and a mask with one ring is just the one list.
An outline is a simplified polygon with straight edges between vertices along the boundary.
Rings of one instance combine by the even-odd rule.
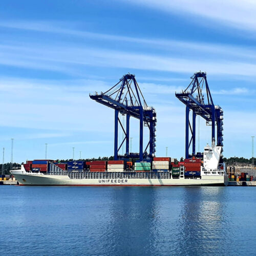
[[[212, 100], [205, 72], [197, 72], [191, 77], [192, 81], [181, 93], [175, 93], [176, 97], [186, 105], [186, 145], [185, 156], [191, 158], [196, 155], [196, 116], [206, 120], [206, 125], [211, 125], [212, 145], [223, 146], [223, 111]], [[206, 100], [205, 100], [206, 95]], [[189, 112], [192, 111], [192, 122], [189, 120]], [[192, 144], [192, 154], [189, 148]]]

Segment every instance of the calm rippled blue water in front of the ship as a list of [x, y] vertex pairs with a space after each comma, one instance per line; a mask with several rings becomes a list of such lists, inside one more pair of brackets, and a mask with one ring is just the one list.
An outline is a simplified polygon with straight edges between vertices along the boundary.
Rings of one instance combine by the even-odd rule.
[[255, 187], [0, 186], [2, 255], [255, 255]]

